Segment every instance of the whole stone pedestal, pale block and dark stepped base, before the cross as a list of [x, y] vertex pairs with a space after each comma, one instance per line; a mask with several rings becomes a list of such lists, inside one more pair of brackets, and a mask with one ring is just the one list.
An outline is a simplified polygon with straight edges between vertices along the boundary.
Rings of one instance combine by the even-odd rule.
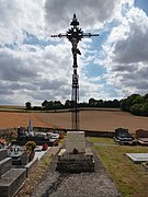
[[66, 149], [58, 154], [57, 171], [60, 172], [93, 172], [94, 160], [91, 149], [86, 149], [83, 131], [68, 131]]

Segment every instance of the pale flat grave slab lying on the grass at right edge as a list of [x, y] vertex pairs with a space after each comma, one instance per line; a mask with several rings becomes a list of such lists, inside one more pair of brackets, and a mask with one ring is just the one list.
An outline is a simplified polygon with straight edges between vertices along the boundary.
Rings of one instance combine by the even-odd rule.
[[148, 161], [148, 153], [126, 153], [126, 155], [134, 162], [134, 163], [141, 163]]

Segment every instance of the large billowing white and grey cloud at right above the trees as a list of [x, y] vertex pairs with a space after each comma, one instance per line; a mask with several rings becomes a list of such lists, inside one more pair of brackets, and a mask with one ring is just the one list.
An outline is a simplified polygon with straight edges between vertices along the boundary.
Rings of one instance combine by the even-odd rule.
[[147, 93], [147, 15], [138, 8], [132, 8], [104, 45], [106, 80], [118, 89], [118, 94]]

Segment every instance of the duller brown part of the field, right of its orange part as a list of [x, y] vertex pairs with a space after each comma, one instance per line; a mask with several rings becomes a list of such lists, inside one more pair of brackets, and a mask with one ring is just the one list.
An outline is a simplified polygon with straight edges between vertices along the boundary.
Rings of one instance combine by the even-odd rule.
[[[71, 128], [71, 113], [38, 113], [39, 119], [60, 128]], [[106, 111], [81, 111], [80, 129], [114, 131], [115, 128], [123, 127], [135, 132], [137, 129], [148, 130], [148, 117], [133, 116], [125, 112]]]

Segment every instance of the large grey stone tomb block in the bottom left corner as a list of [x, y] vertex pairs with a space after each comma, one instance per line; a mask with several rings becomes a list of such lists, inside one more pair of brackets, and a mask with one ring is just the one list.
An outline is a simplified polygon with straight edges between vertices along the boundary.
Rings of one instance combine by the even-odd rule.
[[26, 178], [25, 169], [11, 169], [0, 177], [0, 197], [12, 197]]

